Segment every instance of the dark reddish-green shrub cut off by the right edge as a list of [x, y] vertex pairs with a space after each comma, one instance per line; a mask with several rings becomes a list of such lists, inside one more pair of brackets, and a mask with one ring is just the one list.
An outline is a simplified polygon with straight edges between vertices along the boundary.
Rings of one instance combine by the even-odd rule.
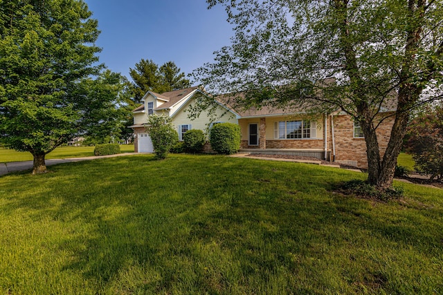
[[415, 170], [443, 179], [443, 107], [427, 108], [408, 127], [406, 149], [413, 154]]

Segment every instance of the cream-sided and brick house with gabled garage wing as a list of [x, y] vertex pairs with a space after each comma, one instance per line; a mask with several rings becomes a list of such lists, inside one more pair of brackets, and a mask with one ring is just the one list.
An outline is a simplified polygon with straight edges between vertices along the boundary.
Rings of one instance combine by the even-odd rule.
[[[152, 143], [143, 124], [147, 115], [166, 113], [179, 137], [189, 129], [205, 130], [211, 123], [206, 113], [190, 120], [186, 109], [195, 103], [204, 90], [197, 87], [157, 94], [146, 93], [143, 105], [134, 110], [135, 151], [152, 152]], [[358, 122], [341, 111], [307, 116], [302, 108], [236, 108], [224, 99], [218, 100], [217, 122], [239, 124], [242, 132], [241, 150], [248, 153], [273, 153], [315, 157], [366, 168], [366, 145]], [[384, 110], [389, 113], [393, 109]], [[378, 139], [381, 155], [388, 145], [394, 117], [384, 120]]]

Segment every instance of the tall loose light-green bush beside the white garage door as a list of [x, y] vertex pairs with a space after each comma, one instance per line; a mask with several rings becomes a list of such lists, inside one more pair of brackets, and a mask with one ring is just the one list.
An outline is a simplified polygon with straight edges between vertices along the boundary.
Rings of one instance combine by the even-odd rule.
[[155, 158], [163, 160], [179, 140], [179, 134], [172, 126], [172, 119], [167, 115], [149, 115], [145, 125], [154, 146]]

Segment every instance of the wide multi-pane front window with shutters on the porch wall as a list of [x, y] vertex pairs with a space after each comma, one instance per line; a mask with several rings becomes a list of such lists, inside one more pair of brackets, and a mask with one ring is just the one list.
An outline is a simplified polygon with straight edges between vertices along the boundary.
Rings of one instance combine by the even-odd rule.
[[280, 121], [274, 122], [275, 139], [316, 138], [316, 122]]

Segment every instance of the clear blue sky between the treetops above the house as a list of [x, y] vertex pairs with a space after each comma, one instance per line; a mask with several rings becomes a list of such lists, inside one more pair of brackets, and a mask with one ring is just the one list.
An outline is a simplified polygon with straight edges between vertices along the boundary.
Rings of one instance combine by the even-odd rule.
[[205, 0], [84, 0], [101, 30], [100, 63], [130, 79], [141, 59], [174, 61], [186, 74], [230, 44], [232, 26], [219, 6]]

